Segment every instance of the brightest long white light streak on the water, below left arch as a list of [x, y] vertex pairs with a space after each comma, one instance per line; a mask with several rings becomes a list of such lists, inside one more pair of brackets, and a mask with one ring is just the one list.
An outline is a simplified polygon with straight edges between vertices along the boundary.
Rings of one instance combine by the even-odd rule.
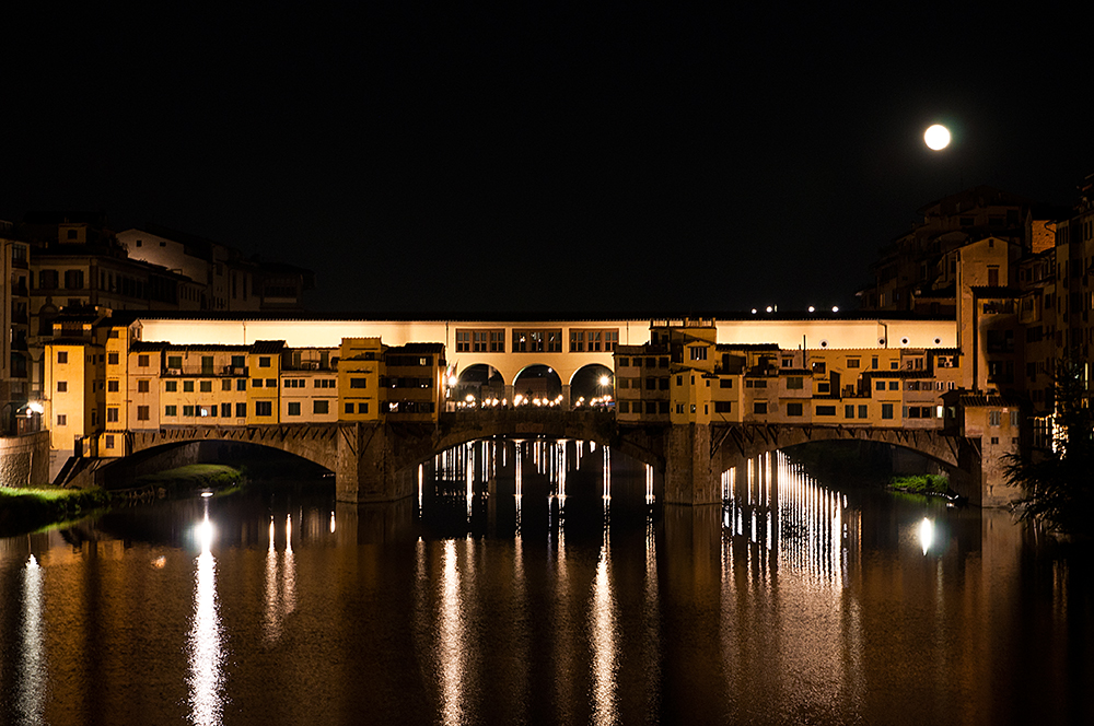
[[217, 562], [211, 549], [214, 529], [209, 522], [208, 504], [203, 519], [195, 528], [195, 537], [201, 552], [197, 557], [194, 575], [194, 620], [187, 637], [190, 665], [187, 683], [190, 689], [190, 722], [208, 726], [221, 723], [224, 687], [224, 654], [217, 607]]

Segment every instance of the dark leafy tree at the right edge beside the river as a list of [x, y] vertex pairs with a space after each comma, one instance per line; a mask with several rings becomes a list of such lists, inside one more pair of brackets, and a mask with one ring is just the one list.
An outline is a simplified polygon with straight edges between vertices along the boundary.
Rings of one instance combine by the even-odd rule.
[[1054, 448], [1006, 455], [1006, 478], [1025, 492], [1023, 519], [1094, 535], [1094, 412], [1082, 365], [1061, 361], [1055, 378]]

